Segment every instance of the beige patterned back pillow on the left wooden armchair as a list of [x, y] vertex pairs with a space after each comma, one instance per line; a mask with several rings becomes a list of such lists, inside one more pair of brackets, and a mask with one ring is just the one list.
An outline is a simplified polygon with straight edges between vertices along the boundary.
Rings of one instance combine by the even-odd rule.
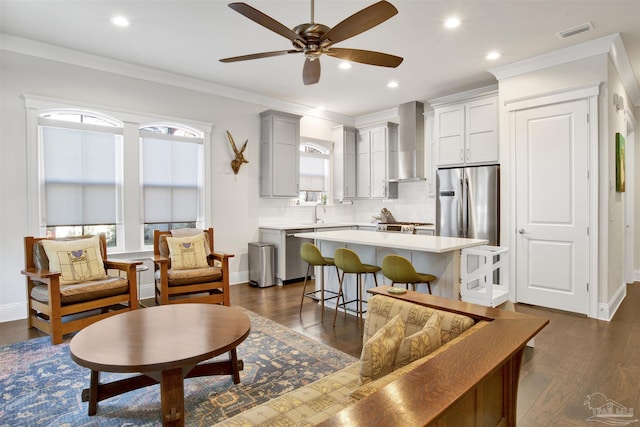
[[61, 273], [61, 285], [106, 277], [98, 236], [63, 241], [42, 240], [42, 247], [49, 260], [49, 271]]

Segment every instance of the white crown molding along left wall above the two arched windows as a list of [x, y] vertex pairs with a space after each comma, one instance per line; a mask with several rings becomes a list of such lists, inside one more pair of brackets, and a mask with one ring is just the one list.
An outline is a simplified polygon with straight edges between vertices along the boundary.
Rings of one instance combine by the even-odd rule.
[[47, 43], [36, 42], [21, 37], [14, 37], [8, 34], [0, 33], [0, 50], [35, 56], [51, 61], [118, 74], [125, 77], [147, 80], [182, 89], [194, 90], [210, 95], [263, 105], [281, 111], [302, 114], [307, 117], [335, 121], [345, 125], [353, 126], [355, 123], [355, 119], [351, 116], [333, 113], [330, 111], [318, 111], [316, 108], [307, 105], [296, 104], [217, 83], [168, 73], [166, 71], [160, 71], [124, 61], [117, 61], [115, 59], [105, 58]]

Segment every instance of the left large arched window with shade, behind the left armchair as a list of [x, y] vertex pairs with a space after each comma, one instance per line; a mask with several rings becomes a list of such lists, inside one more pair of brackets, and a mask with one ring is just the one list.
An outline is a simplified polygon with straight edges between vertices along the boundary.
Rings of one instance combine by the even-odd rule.
[[40, 226], [48, 236], [107, 235], [122, 222], [122, 122], [64, 109], [38, 117]]

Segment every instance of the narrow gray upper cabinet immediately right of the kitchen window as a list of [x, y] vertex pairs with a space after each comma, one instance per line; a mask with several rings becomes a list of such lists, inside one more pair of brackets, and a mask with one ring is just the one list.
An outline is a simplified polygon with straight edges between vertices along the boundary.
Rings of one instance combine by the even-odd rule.
[[356, 129], [337, 126], [333, 132], [333, 198], [356, 197]]

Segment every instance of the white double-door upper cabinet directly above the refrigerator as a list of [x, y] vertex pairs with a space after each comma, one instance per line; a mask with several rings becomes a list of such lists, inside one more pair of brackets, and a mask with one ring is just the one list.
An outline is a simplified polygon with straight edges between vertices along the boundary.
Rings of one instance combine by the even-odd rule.
[[437, 166], [498, 162], [498, 96], [434, 106]]

